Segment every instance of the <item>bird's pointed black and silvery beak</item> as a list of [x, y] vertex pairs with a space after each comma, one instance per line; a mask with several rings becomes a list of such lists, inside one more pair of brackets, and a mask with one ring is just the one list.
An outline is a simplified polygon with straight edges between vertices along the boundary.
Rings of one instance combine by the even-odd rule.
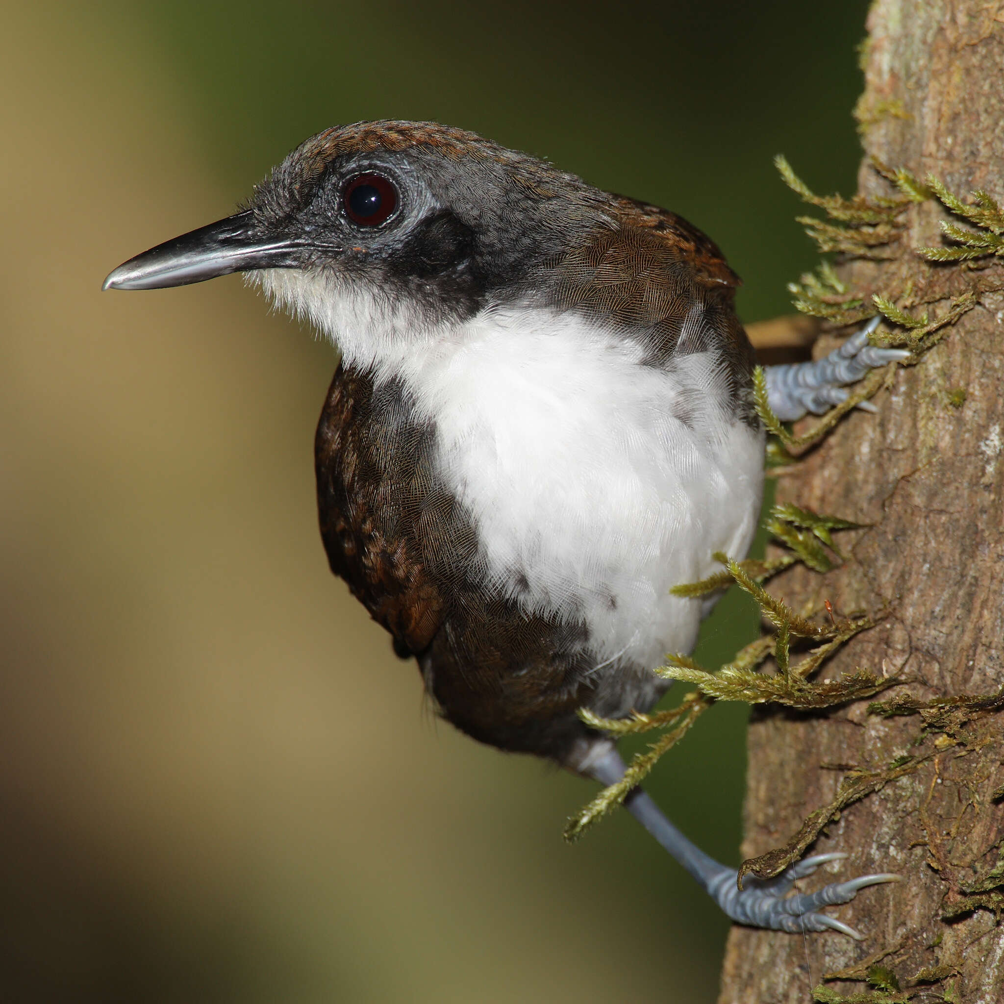
[[254, 214], [247, 211], [130, 258], [101, 288], [163, 289], [255, 268], [291, 268], [308, 248], [303, 240], [262, 236], [254, 227]]

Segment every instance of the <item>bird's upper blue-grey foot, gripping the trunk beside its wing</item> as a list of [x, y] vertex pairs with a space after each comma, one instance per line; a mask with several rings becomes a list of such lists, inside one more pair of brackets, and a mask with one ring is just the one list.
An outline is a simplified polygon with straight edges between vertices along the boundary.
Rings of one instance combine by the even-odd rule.
[[[845, 384], [859, 381], [869, 369], [907, 358], [905, 348], [878, 348], [869, 344], [868, 335], [878, 326], [881, 317], [872, 317], [839, 348], [815, 362], [792, 362], [764, 366], [767, 379], [767, 402], [782, 422], [794, 422], [806, 412], [822, 415], [847, 399]], [[861, 402], [864, 411], [873, 406]]]

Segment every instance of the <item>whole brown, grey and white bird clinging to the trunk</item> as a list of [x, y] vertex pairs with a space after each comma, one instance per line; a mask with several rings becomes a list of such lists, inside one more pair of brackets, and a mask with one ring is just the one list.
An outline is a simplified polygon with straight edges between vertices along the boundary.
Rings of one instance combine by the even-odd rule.
[[[736, 275], [685, 220], [430, 122], [307, 140], [248, 209], [116, 268], [105, 288], [248, 272], [341, 360], [317, 429], [321, 534], [344, 578], [414, 657], [442, 715], [503, 750], [604, 784], [623, 764], [576, 711], [648, 711], [667, 652], [706, 600], [672, 595], [742, 557], [764, 433]], [[767, 369], [783, 419], [907, 353], [867, 332]], [[628, 808], [734, 920], [851, 928], [821, 912], [894, 878], [787, 897], [840, 854], [748, 881], [641, 790]]]

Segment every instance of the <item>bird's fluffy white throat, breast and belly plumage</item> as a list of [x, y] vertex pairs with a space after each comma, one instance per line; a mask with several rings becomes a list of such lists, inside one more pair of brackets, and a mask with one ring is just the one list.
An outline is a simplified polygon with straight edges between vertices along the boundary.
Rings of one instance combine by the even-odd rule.
[[720, 570], [713, 551], [745, 555], [762, 491], [762, 437], [730, 417], [714, 357], [647, 366], [638, 345], [538, 309], [404, 334], [405, 318], [367, 298], [266, 275], [347, 361], [411, 388], [500, 589], [528, 612], [584, 620], [597, 664], [691, 651], [702, 604], [669, 590]]

